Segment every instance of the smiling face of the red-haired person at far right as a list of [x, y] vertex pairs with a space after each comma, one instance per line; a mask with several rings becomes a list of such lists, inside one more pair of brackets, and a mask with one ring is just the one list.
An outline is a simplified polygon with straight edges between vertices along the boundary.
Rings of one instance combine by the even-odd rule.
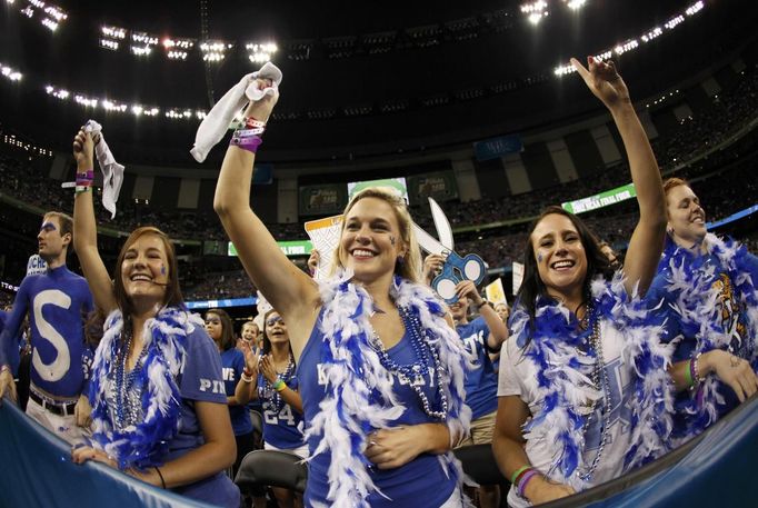
[[668, 190], [666, 195], [668, 211], [668, 231], [674, 241], [686, 248], [702, 242], [706, 229], [706, 212], [700, 200], [689, 186], [680, 185]]

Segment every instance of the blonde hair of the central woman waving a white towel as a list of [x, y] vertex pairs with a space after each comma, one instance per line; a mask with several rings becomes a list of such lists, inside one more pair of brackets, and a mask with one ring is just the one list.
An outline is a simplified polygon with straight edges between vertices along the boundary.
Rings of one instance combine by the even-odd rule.
[[[356, 206], [358, 201], [365, 198], [376, 198], [385, 201], [395, 211], [395, 217], [398, 220], [398, 227], [400, 228], [400, 240], [405, 243], [408, 249], [402, 262], [398, 262], [395, 267], [395, 272], [411, 282], [421, 282], [421, 250], [419, 243], [416, 240], [416, 235], [413, 233], [413, 219], [410, 217], [406, 201], [391, 190], [385, 187], [369, 187], [361, 190], [352, 197], [342, 217], [347, 218], [348, 213]], [[345, 268], [342, 260], [340, 258], [340, 249], [342, 248], [342, 235], [345, 233], [345, 226], [347, 221], [342, 221], [342, 229], [340, 230], [340, 241], [337, 243], [335, 249], [335, 256], [331, 263], [330, 273], [335, 275], [339, 268]]]

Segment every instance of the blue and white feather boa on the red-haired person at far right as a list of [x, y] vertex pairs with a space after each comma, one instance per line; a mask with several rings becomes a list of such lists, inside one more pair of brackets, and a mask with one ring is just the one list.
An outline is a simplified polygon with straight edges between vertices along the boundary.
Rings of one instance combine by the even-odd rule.
[[[667, 291], [675, 296], [669, 306], [679, 319], [681, 335], [696, 340], [694, 355], [729, 348], [732, 336], [721, 326], [720, 295], [714, 289], [716, 280], [726, 272], [731, 280], [735, 300], [744, 307], [747, 330], [742, 340], [747, 343], [742, 348], [748, 351], [746, 359], [754, 370], [758, 370], [758, 291], [750, 276], [747, 248], [734, 240], [725, 242], [712, 233], [706, 236], [705, 245], [708, 253], [719, 260], [719, 267], [707, 263], [708, 256], [698, 256], [679, 248], [670, 239], [660, 263], [665, 270]], [[716, 376], [708, 376], [697, 396], [687, 402], [684, 408], [688, 415], [687, 428], [684, 429], [682, 441], [697, 436], [718, 420], [718, 405], [726, 404], [720, 389], [724, 386]]]

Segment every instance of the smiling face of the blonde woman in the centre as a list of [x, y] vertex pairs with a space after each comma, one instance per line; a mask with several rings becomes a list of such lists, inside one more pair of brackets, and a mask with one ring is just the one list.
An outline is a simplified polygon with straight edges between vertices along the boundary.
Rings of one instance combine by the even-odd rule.
[[379, 198], [363, 198], [345, 217], [339, 259], [355, 271], [356, 280], [369, 282], [391, 277], [398, 257], [406, 255], [392, 207]]

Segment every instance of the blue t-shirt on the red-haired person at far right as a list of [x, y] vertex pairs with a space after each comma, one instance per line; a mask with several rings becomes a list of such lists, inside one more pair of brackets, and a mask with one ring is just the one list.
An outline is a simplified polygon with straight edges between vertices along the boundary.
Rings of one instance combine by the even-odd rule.
[[[731, 335], [730, 350], [734, 355], [741, 358], [749, 359], [752, 356], [752, 348], [755, 341], [748, 337], [747, 322], [747, 302], [741, 301], [739, 295], [734, 290], [734, 281], [730, 279], [728, 270], [722, 266], [719, 257], [708, 253], [697, 256], [688, 251], [679, 251], [681, 259], [688, 265], [690, 272], [697, 272], [700, 277], [707, 277], [708, 285], [715, 293], [702, 295], [702, 302], [706, 300], [715, 302], [718, 308], [718, 313], [721, 319], [718, 322], [710, 322], [709, 326], [715, 326], [720, 332], [728, 332]], [[746, 265], [754, 286], [758, 283], [758, 257], [750, 253], [746, 255]], [[657, 310], [661, 325], [664, 326], [664, 335], [661, 340], [670, 342], [679, 338], [677, 348], [671, 357], [672, 362], [689, 360], [696, 355], [697, 336], [705, 328], [697, 319], [682, 319], [681, 315], [677, 312], [672, 303], [676, 303], [680, 297], [679, 291], [670, 290], [671, 269], [669, 266], [669, 258], [664, 258], [664, 261], [658, 266], [658, 273], [650, 285], [647, 299], [650, 306], [660, 303], [660, 310]], [[694, 303], [698, 303], [696, 301]], [[694, 310], [694, 309], [689, 309]], [[697, 315], [692, 315], [697, 317]], [[756, 366], [754, 365], [754, 368]], [[739, 405], [739, 399], [735, 391], [726, 384], [718, 381], [718, 391], [724, 397], [724, 404], [715, 400], [716, 409], [719, 418]], [[691, 394], [689, 390], [684, 390], [677, 394], [675, 400], [676, 412], [674, 417], [675, 435], [679, 435], [687, 427], [687, 412], [691, 404]]]

